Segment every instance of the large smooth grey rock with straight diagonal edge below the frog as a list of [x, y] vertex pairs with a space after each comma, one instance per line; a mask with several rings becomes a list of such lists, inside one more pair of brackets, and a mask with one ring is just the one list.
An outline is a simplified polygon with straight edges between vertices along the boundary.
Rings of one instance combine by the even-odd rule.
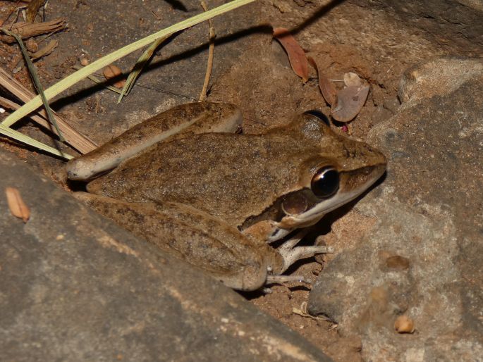
[[[330, 361], [0, 149], [2, 361]], [[18, 188], [30, 220], [11, 215]]]

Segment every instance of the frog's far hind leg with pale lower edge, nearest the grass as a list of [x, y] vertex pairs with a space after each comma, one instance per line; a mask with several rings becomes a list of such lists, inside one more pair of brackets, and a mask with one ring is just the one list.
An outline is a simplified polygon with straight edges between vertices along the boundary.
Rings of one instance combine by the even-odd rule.
[[241, 123], [242, 114], [233, 104], [183, 104], [159, 113], [88, 154], [69, 161], [67, 174], [71, 180], [88, 180], [173, 135], [236, 132]]

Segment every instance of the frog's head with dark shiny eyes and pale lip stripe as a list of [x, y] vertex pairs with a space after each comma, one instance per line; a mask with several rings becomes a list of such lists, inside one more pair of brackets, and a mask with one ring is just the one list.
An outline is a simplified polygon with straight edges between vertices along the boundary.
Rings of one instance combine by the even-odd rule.
[[295, 118], [288, 132], [299, 135], [293, 139], [306, 145], [306, 151], [296, 155], [298, 180], [243, 227], [244, 232], [267, 242], [314, 225], [326, 213], [365, 192], [386, 170], [384, 154], [365, 142], [336, 135], [316, 111]]

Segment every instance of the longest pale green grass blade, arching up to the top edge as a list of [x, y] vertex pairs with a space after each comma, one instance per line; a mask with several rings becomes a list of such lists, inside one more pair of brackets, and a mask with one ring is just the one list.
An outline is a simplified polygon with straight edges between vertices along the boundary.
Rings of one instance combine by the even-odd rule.
[[[101, 68], [104, 68], [106, 65], [113, 63], [114, 61], [118, 60], [119, 58], [122, 58], [123, 56], [126, 56], [127, 54], [132, 53], [133, 51], [136, 51], [137, 49], [142, 48], [142, 46], [146, 46], [148, 44], [151, 44], [154, 42], [154, 40], [159, 39], [160, 37], [165, 37], [166, 35], [173, 34], [175, 32], [178, 32], [180, 30], [184, 30], [187, 27], [192, 27], [193, 25], [197, 25], [199, 23], [202, 23], [205, 20], [208, 20], [209, 18], [214, 18], [215, 16], [221, 15], [223, 13], [226, 13], [227, 11], [231, 11], [235, 8], [239, 8], [240, 6], [250, 4], [255, 0], [234, 0], [231, 1], [227, 4], [223, 4], [221, 6], [218, 6], [217, 8], [214, 8], [210, 11], [207, 11], [205, 13], [201, 13], [198, 15], [193, 16], [192, 18], [188, 18], [186, 20], [181, 21], [180, 23], [176, 23], [175, 25], [171, 25], [170, 27], [166, 27], [164, 30], [160, 30], [159, 32], [156, 32], [152, 35], [149, 35], [143, 39], [137, 40], [136, 42], [133, 42], [132, 44], [129, 44], [128, 46], [124, 46], [121, 49], [118, 49], [116, 51], [113, 51], [111, 54], [108, 54], [97, 61], [94, 61], [90, 65], [87, 65], [85, 68], [82, 68], [78, 70], [77, 72], [68, 75], [68, 77], [65, 77], [63, 80], [58, 82], [56, 85], [53, 85], [49, 89], [45, 90], [45, 95], [47, 97], [47, 100], [53, 98], [57, 94], [63, 92], [64, 90], [68, 89], [72, 85], [75, 85], [75, 83], [79, 82], [80, 80], [84, 79], [87, 77], [87, 75], [91, 75], [94, 73], [96, 70], [99, 70]], [[3, 125], [10, 126], [13, 125], [13, 123], [16, 123], [17, 120], [20, 120], [21, 118], [27, 116], [32, 111], [35, 111], [40, 105], [42, 104], [42, 101], [40, 100], [39, 96], [36, 96], [34, 99], [29, 101], [27, 104], [25, 104], [22, 108], [18, 109], [18, 111], [12, 113], [10, 116], [8, 116], [3, 122]]]

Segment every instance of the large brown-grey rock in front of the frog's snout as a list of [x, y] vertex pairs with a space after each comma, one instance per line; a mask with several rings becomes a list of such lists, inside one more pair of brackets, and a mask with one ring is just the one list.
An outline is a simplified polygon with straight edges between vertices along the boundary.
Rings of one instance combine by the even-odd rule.
[[[408, 70], [403, 104], [371, 131], [386, 180], [356, 211], [370, 235], [336, 256], [309, 311], [360, 335], [369, 361], [477, 361], [483, 356], [483, 62], [438, 58]], [[398, 335], [398, 316], [414, 320]]]

